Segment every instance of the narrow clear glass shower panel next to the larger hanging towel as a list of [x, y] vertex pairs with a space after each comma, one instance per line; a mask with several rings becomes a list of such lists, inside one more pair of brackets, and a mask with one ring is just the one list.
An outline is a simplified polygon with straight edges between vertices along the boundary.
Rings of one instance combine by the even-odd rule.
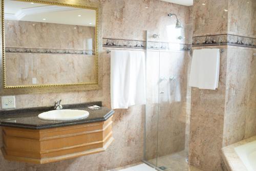
[[144, 161], [157, 166], [159, 113], [159, 33], [147, 32], [146, 43], [146, 105]]

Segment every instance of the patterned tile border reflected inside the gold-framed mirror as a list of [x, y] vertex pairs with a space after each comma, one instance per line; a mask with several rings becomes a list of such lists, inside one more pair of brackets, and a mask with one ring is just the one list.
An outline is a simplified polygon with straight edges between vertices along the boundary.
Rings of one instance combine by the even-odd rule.
[[6, 53], [47, 53], [47, 54], [77, 54], [95, 55], [92, 50], [67, 50], [67, 49], [36, 49], [36, 48], [5, 48]]

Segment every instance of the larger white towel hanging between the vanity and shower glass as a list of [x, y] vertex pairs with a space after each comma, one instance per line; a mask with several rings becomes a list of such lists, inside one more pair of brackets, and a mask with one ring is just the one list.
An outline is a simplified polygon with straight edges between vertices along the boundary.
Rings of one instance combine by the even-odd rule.
[[145, 53], [111, 50], [111, 108], [145, 104]]

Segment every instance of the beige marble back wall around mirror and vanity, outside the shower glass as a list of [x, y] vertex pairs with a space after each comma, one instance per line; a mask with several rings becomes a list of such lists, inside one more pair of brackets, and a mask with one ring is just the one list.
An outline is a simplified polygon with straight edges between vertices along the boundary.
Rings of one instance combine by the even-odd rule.
[[[70, 1], [65, 0], [63, 2]], [[186, 23], [189, 7], [185, 6], [158, 0], [102, 0], [101, 3], [103, 8], [103, 37], [145, 40], [145, 30], [159, 33], [160, 27], [166, 28], [166, 25], [175, 24], [175, 19], [170, 19], [167, 16], [170, 11], [179, 13], [183, 24], [189, 24]], [[102, 88], [100, 90], [16, 95], [16, 107], [53, 105], [56, 99], [62, 99], [63, 104], [102, 101], [104, 106], [110, 108], [110, 54], [106, 54], [105, 50], [106, 48], [99, 58], [102, 66], [102, 76], [100, 76]], [[156, 109], [155, 106], [153, 106], [154, 109]], [[106, 152], [43, 165], [9, 162], [4, 160], [1, 154], [0, 170], [96, 171], [139, 162], [143, 158], [144, 113], [144, 105], [133, 106], [128, 110], [115, 110], [113, 118], [115, 141]], [[155, 121], [154, 117], [152, 119]], [[2, 143], [1, 138], [0, 136]], [[2, 145], [0, 144], [0, 146]]]

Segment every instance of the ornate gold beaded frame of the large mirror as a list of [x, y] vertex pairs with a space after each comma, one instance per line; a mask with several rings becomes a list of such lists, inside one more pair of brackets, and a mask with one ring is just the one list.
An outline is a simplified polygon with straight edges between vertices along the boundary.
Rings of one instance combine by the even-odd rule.
[[[16, 93], [11, 94], [31, 94], [31, 93], [47, 93], [47, 92], [62, 92], [64, 90], [70, 91], [79, 91], [79, 90], [96, 90], [99, 89], [99, 9], [100, 4], [93, 4], [86, 0], [76, 1], [75, 4], [64, 4], [61, 0], [45, 0], [45, 1], [37, 1], [37, 0], [16, 0], [21, 2], [31, 2], [31, 3], [38, 3], [38, 4], [47, 4], [47, 5], [58, 5], [58, 6], [66, 6], [66, 7], [73, 7], [73, 8], [82, 8], [82, 9], [91, 9], [95, 10], [96, 13], [96, 22], [95, 22], [95, 70], [96, 70], [96, 81], [95, 82], [80, 82], [80, 83], [67, 83], [67, 84], [39, 84], [39, 85], [28, 85], [28, 86], [7, 86], [6, 85], [6, 64], [5, 64], [5, 30], [4, 30], [4, 0], [2, 0], [2, 76], [3, 76], [3, 83], [0, 85], [3, 89], [0, 91], [0, 95], [10, 94], [6, 91], [7, 89], [21, 89], [20, 91], [14, 91]], [[95, 7], [96, 6], [96, 7]], [[100, 34], [101, 35], [101, 34]], [[0, 72], [1, 74], [1, 72]], [[81, 87], [83, 86], [83, 87]], [[84, 88], [84, 86], [88, 86]], [[51, 87], [51, 89], [49, 89]], [[63, 87], [64, 89], [60, 89]], [[40, 88], [31, 90], [34, 88]], [[44, 89], [45, 88], [45, 89]], [[48, 89], [47, 89], [48, 88]], [[23, 90], [22, 90], [23, 89]], [[25, 90], [25, 92], [24, 92]], [[11, 91], [13, 92], [13, 91]]]

